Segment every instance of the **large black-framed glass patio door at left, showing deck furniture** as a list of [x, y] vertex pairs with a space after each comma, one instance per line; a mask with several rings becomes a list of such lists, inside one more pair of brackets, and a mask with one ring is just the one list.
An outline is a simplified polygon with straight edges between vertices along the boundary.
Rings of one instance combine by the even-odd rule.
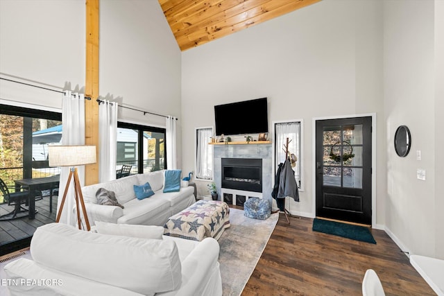
[[[24, 107], [0, 105], [0, 178], [15, 192], [15, 180], [51, 177], [60, 168], [50, 168], [48, 145], [62, 141], [62, 114]], [[26, 190], [26, 188], [17, 189]], [[56, 221], [58, 193], [35, 191], [35, 219], [21, 216], [10, 220], [14, 205], [0, 192], [0, 256], [28, 247], [35, 227]], [[51, 195], [52, 196], [52, 195]], [[52, 211], [49, 206], [52, 200]]]

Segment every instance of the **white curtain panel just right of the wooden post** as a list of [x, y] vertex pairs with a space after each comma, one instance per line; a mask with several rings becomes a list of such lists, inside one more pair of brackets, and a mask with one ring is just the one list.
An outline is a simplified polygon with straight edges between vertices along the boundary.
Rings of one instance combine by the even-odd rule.
[[99, 182], [116, 179], [117, 103], [99, 104]]

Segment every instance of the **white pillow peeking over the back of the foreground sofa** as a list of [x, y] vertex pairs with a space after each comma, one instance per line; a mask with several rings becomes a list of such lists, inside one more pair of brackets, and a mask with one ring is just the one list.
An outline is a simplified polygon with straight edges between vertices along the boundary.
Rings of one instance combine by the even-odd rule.
[[96, 221], [95, 229], [99, 234], [137, 238], [162, 239], [164, 234], [164, 227], [162, 226], [115, 224], [102, 221]]

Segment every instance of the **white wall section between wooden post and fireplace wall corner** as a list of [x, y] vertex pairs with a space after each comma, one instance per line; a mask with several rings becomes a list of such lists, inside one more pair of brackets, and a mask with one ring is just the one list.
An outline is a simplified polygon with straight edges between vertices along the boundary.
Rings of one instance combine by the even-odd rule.
[[[158, 1], [100, 2], [100, 94], [127, 107], [179, 118], [181, 53]], [[165, 127], [162, 116], [119, 108], [119, 119]]]

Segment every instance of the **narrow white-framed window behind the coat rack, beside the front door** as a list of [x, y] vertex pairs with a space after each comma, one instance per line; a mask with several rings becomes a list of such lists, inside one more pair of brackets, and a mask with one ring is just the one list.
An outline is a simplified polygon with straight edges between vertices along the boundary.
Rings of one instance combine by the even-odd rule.
[[293, 167], [294, 177], [298, 182], [299, 189], [302, 191], [302, 120], [297, 121], [282, 121], [274, 123], [275, 130], [275, 168], [286, 159], [284, 146], [289, 139], [289, 153], [296, 155], [298, 161]]

